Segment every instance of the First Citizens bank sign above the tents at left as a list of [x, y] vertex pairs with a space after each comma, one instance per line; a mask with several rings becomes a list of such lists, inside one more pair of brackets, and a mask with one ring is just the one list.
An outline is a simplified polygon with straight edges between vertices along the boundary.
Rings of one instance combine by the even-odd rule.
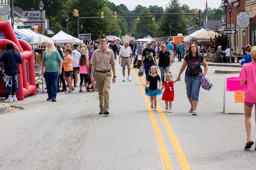
[[[24, 23], [30, 25], [41, 25], [41, 13], [40, 10], [26, 10], [22, 11], [24, 18], [28, 20]], [[45, 26], [45, 10], [42, 12], [42, 23]]]

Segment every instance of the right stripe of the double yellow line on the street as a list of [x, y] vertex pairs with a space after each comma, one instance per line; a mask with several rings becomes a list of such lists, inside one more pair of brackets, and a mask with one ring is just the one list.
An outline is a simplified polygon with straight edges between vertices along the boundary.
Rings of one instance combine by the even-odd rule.
[[[138, 69], [136, 69], [136, 71], [138, 72]], [[145, 79], [143, 78], [143, 76], [141, 76], [140, 78], [142, 79], [142, 82], [145, 82]], [[164, 112], [159, 104], [157, 105], [157, 109], [158, 109], [158, 115], [159, 115], [159, 117], [164, 125], [164, 128], [169, 136], [169, 139], [172, 143], [172, 147], [176, 153], [178, 161], [180, 162], [181, 169], [182, 170], [190, 170], [190, 166], [188, 164], [188, 161], [186, 159], [184, 152], [182, 151], [182, 149], [180, 147], [180, 143], [172, 129], [172, 126], [170, 125], [168, 119], [166, 118], [166, 115], [164, 114]]]

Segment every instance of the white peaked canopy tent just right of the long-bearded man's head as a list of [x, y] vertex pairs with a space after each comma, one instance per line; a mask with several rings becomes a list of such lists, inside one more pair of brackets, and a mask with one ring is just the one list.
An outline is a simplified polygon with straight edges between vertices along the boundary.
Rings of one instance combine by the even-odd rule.
[[68, 35], [67, 33], [60, 31], [56, 33], [52, 39], [55, 39], [55, 43], [83, 43], [83, 41], [79, 40], [78, 38], [75, 38], [71, 35]]

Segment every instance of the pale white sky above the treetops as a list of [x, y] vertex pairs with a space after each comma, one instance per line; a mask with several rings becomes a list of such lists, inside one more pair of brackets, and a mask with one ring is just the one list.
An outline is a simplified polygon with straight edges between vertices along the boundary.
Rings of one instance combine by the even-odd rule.
[[[149, 7], [150, 5], [162, 6], [164, 9], [170, 0], [109, 0], [114, 4], [124, 4], [129, 10], [134, 10], [135, 6], [141, 5]], [[190, 9], [205, 9], [206, 0], [179, 0], [180, 4], [187, 4]], [[207, 0], [208, 8], [219, 8], [221, 0]]]

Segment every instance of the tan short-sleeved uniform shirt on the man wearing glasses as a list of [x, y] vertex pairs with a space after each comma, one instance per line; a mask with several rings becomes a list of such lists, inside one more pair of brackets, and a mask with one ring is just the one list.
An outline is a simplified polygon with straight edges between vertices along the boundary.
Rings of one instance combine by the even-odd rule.
[[95, 66], [97, 71], [111, 70], [111, 65], [115, 65], [114, 53], [110, 49], [102, 52], [100, 48], [96, 49], [92, 54], [90, 63]]

